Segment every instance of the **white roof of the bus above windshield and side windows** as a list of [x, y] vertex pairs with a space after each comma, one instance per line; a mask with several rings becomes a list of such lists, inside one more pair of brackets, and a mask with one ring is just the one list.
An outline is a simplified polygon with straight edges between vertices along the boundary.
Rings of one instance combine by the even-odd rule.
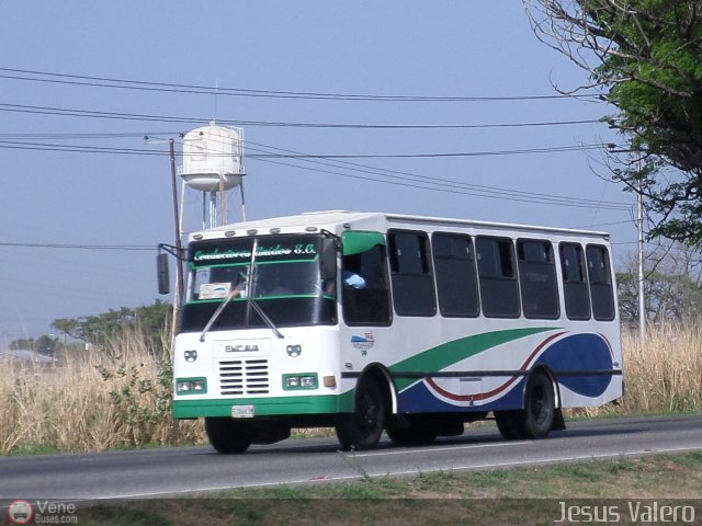
[[431, 217], [431, 216], [412, 216], [406, 214], [389, 213], [372, 213], [372, 211], [348, 211], [348, 210], [326, 210], [310, 211], [297, 214], [293, 216], [272, 217], [267, 219], [256, 219], [251, 221], [234, 222], [215, 227], [208, 230], [192, 232], [192, 236], [202, 235], [202, 238], [219, 237], [225, 232], [236, 232], [241, 236], [249, 230], [270, 230], [270, 229], [304, 229], [305, 227], [317, 227], [332, 232], [341, 232], [344, 229], [373, 229], [383, 225], [385, 228], [401, 226], [403, 228], [418, 227], [464, 227], [464, 228], [487, 228], [487, 229], [506, 229], [523, 232], [541, 232], [544, 235], [563, 235], [563, 236], [581, 236], [604, 238], [609, 240], [609, 233], [593, 230], [579, 230], [561, 227], [518, 225], [508, 222], [477, 221], [471, 219]]

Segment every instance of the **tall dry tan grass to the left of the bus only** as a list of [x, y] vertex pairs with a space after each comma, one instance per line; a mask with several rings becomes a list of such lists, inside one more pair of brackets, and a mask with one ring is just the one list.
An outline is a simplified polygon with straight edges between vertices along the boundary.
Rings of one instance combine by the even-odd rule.
[[197, 422], [170, 418], [170, 361], [135, 334], [56, 365], [0, 364], [0, 454], [95, 451], [201, 442]]

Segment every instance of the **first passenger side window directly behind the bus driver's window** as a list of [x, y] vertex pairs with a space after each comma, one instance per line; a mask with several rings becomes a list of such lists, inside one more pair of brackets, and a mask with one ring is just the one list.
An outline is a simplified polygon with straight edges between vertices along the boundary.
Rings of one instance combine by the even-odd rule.
[[434, 316], [437, 299], [429, 240], [423, 232], [388, 232], [393, 302], [400, 316]]

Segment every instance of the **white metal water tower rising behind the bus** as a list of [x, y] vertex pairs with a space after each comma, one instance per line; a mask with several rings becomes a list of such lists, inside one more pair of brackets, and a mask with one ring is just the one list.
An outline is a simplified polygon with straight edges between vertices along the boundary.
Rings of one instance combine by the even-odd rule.
[[[183, 137], [183, 164], [178, 174], [183, 180], [181, 192], [182, 209], [188, 188], [202, 194], [202, 227], [212, 228], [230, 222], [227, 217], [227, 191], [239, 186], [241, 194], [241, 216], [246, 220], [244, 204], [245, 175], [241, 163], [244, 130], [210, 126], [189, 132]], [[219, 204], [217, 205], [217, 194]], [[181, 225], [181, 232], [183, 231]]]

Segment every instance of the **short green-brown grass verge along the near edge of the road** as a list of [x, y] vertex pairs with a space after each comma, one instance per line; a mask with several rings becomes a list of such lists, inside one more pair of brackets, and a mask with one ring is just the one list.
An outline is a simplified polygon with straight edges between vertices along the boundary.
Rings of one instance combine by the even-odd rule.
[[554, 524], [566, 501], [626, 510], [612, 499], [699, 505], [702, 453], [237, 489], [79, 507], [77, 516], [81, 525], [540, 525]]

